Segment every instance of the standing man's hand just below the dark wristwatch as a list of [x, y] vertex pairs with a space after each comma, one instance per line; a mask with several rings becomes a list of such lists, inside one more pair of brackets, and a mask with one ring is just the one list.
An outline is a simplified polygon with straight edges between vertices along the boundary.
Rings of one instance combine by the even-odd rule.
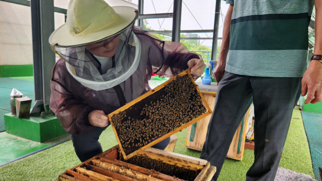
[[302, 96], [308, 93], [305, 104], [322, 101], [322, 63], [320, 61], [311, 61], [302, 78], [301, 92]]

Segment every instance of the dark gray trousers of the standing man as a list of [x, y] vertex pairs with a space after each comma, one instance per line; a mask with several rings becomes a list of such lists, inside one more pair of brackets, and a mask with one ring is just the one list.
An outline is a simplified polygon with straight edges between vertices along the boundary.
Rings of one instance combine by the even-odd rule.
[[224, 73], [200, 156], [217, 168], [213, 181], [219, 176], [232, 138], [252, 102], [255, 160], [246, 181], [274, 180], [292, 112], [301, 94], [301, 79]]

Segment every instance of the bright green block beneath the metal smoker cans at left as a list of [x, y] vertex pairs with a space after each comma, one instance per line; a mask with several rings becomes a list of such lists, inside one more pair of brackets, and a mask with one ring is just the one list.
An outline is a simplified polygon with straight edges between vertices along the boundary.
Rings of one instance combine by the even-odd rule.
[[67, 134], [55, 116], [46, 118], [17, 118], [11, 113], [4, 114], [5, 132], [37, 142], [45, 142], [57, 136]]

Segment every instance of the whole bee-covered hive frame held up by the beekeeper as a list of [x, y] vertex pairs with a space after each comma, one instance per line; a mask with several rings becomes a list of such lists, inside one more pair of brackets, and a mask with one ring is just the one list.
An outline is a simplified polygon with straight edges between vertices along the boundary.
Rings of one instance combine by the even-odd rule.
[[108, 118], [126, 160], [211, 113], [187, 69]]

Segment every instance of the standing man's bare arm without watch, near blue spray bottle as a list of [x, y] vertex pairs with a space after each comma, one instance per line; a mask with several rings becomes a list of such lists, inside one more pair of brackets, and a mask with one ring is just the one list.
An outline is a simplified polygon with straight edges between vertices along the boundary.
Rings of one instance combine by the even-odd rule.
[[218, 62], [214, 71], [217, 82], [221, 80], [223, 73], [225, 72], [226, 58], [229, 50], [230, 22], [233, 8], [234, 4], [230, 4], [223, 22], [222, 43], [218, 56]]

